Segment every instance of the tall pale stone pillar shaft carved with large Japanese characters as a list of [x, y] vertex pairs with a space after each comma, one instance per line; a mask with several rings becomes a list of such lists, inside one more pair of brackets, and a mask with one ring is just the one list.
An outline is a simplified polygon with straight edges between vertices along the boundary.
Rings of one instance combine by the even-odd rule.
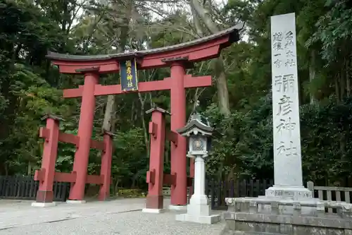
[[279, 172], [289, 167], [301, 175], [294, 13], [271, 17], [271, 47], [275, 185], [301, 185], [301, 179], [289, 179], [288, 171]]

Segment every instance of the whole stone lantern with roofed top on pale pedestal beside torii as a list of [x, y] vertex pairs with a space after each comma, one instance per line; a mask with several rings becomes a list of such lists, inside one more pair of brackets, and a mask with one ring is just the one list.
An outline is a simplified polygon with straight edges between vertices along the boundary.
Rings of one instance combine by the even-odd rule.
[[176, 220], [197, 222], [201, 224], [213, 224], [220, 220], [220, 215], [210, 215], [210, 205], [205, 193], [206, 188], [206, 165], [204, 159], [208, 157], [210, 150], [212, 128], [204, 116], [198, 112], [191, 114], [186, 126], [177, 130], [177, 133], [187, 137], [187, 157], [194, 157], [194, 194], [191, 196], [187, 213], [176, 215]]

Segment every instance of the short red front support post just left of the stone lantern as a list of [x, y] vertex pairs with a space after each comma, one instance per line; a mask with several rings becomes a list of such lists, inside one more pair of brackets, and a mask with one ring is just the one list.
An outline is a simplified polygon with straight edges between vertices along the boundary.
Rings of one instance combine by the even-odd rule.
[[[156, 133], [150, 138], [150, 158], [148, 178], [148, 195], [146, 208], [163, 208], [163, 171], [165, 151], [165, 116], [157, 109], [151, 114], [152, 131]], [[150, 129], [149, 129], [150, 131]]]

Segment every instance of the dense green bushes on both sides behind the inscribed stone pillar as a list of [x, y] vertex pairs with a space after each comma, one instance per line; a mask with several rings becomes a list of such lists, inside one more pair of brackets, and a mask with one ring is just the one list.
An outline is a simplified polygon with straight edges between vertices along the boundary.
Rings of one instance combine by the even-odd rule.
[[[261, 98], [249, 112], [234, 112], [227, 119], [212, 108], [207, 112], [224, 134], [213, 141], [208, 174], [218, 177], [221, 167], [222, 176], [228, 177], [231, 167], [236, 167], [238, 177], [272, 179], [271, 95]], [[319, 185], [346, 184], [352, 162], [352, 100], [306, 104], [300, 112], [304, 180]]]

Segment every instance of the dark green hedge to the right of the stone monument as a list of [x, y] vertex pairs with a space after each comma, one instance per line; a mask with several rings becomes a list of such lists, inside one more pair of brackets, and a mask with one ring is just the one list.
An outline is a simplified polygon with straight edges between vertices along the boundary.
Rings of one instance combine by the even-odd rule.
[[306, 179], [345, 184], [351, 176], [352, 100], [301, 107], [303, 170]]

